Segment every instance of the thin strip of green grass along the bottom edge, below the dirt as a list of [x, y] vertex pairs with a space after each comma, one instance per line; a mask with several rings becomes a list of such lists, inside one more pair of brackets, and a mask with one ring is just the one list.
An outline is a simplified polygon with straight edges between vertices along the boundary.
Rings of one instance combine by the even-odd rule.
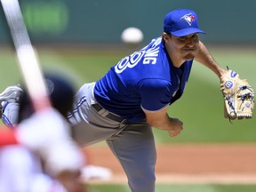
[[[90, 185], [90, 192], [129, 192], [126, 185]], [[256, 185], [156, 185], [156, 192], [255, 192]]]

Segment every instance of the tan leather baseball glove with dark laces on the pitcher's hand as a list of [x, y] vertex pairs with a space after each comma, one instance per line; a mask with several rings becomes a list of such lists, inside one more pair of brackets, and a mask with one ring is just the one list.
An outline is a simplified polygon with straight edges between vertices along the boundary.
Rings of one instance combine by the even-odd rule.
[[252, 118], [254, 92], [246, 79], [240, 79], [232, 70], [220, 76], [220, 91], [224, 97], [224, 116], [226, 118]]

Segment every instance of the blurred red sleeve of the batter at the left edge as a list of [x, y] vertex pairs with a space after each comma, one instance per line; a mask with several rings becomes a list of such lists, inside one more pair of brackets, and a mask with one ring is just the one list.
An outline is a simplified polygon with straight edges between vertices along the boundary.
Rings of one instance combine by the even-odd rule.
[[6, 128], [0, 128], [0, 147], [14, 144], [19, 144], [19, 141], [16, 138], [15, 131]]

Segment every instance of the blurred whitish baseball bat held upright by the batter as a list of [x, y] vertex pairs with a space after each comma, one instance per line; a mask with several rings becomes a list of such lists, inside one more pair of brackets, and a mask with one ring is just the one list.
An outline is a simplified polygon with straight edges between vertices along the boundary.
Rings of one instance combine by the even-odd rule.
[[18, 64], [35, 110], [51, 106], [44, 84], [44, 76], [36, 57], [28, 30], [23, 20], [18, 0], [1, 0], [12, 41], [16, 50]]

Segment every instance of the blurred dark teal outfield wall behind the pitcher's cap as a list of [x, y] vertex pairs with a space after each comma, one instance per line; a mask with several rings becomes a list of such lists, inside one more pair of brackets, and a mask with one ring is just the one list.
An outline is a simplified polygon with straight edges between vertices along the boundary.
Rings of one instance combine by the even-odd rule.
[[[20, 5], [35, 44], [120, 44], [128, 26], [140, 28], [148, 43], [161, 35], [164, 15], [177, 8], [196, 11], [207, 43], [256, 43], [254, 0], [20, 0]], [[1, 44], [7, 36], [1, 25]]]

